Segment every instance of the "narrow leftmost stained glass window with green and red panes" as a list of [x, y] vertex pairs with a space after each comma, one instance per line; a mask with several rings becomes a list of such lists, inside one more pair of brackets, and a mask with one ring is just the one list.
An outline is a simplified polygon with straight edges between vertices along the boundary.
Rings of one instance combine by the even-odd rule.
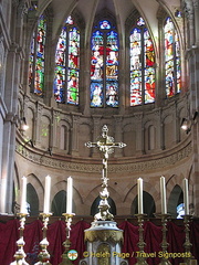
[[43, 96], [44, 92], [45, 41], [46, 19], [42, 14], [33, 33], [29, 56], [29, 86], [38, 96]]

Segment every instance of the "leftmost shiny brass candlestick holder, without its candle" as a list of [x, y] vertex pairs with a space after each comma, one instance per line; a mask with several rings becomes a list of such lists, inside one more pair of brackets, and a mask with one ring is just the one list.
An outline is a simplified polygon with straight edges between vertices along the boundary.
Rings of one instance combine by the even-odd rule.
[[20, 239], [17, 241], [17, 245], [18, 245], [18, 250], [14, 254], [15, 261], [12, 262], [10, 265], [29, 265], [25, 262], [25, 253], [23, 251], [23, 246], [24, 246], [24, 240], [23, 240], [23, 231], [24, 231], [24, 224], [25, 224], [25, 218], [27, 218], [27, 213], [18, 213], [17, 214], [20, 219]]

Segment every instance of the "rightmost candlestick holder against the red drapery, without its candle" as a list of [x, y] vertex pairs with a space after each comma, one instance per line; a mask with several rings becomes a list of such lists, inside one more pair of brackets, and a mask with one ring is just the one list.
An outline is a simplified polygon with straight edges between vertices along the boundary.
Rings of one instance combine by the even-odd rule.
[[192, 244], [190, 243], [190, 235], [189, 235], [189, 223], [190, 223], [190, 219], [192, 218], [192, 215], [190, 214], [186, 214], [184, 215], [184, 223], [185, 223], [185, 234], [186, 234], [186, 241], [184, 243], [184, 247], [185, 247], [185, 253], [186, 253], [186, 257], [184, 258], [186, 264], [190, 264], [190, 261], [192, 258], [192, 254], [190, 252]]

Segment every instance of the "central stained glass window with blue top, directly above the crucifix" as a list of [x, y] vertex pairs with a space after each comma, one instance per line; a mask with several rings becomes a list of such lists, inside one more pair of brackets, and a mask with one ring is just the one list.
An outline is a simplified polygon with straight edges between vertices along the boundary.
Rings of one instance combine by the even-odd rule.
[[118, 35], [108, 20], [92, 35], [91, 107], [118, 107]]

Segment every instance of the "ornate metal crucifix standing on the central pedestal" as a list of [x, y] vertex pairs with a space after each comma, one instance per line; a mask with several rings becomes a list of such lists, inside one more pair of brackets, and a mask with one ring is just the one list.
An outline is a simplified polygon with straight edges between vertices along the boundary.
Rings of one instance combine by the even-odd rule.
[[114, 148], [124, 148], [126, 144], [124, 142], [114, 142], [114, 138], [107, 135], [108, 128], [106, 125], [102, 128], [102, 135], [98, 137], [96, 142], [86, 142], [85, 146], [88, 148], [96, 147], [103, 155], [103, 172], [102, 172], [102, 188], [103, 190], [100, 192], [101, 201], [98, 204], [100, 212], [95, 214], [95, 221], [113, 221], [113, 214], [109, 213], [109, 204], [108, 197], [109, 192], [107, 190], [108, 187], [108, 178], [107, 178], [107, 160], [109, 153], [114, 152]]

